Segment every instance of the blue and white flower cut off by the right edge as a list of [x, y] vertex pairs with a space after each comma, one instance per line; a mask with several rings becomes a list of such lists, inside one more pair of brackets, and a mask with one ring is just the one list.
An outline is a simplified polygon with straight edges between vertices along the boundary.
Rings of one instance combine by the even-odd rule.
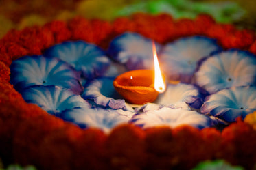
[[222, 89], [205, 98], [201, 112], [210, 113], [226, 122], [235, 122], [237, 117], [246, 117], [256, 111], [256, 87], [232, 87]]

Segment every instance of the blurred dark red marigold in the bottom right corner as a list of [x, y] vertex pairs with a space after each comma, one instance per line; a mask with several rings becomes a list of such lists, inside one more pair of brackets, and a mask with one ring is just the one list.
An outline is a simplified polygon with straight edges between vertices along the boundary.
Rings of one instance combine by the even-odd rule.
[[256, 131], [252, 126], [239, 120], [224, 128], [222, 132], [222, 157], [234, 165], [253, 169], [256, 160]]

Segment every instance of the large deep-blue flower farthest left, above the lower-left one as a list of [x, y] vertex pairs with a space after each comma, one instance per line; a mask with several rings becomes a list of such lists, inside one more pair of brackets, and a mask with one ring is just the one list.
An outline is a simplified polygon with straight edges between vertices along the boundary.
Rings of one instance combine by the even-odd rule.
[[19, 92], [32, 85], [57, 85], [75, 94], [83, 90], [79, 72], [57, 58], [24, 56], [13, 61], [10, 70], [10, 83]]

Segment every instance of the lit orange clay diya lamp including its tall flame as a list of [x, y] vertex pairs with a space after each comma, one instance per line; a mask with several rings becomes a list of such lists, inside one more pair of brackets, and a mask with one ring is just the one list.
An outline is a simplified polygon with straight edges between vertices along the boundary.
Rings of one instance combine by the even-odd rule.
[[153, 42], [154, 70], [132, 70], [117, 76], [115, 90], [131, 104], [154, 102], [165, 91], [165, 79], [159, 67], [156, 46]]

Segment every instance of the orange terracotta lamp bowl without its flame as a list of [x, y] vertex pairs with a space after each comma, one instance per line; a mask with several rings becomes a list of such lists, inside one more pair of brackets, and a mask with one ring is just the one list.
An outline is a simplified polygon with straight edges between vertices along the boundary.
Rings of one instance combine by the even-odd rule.
[[131, 104], [154, 102], [158, 92], [154, 89], [154, 70], [132, 70], [117, 76], [115, 90]]

